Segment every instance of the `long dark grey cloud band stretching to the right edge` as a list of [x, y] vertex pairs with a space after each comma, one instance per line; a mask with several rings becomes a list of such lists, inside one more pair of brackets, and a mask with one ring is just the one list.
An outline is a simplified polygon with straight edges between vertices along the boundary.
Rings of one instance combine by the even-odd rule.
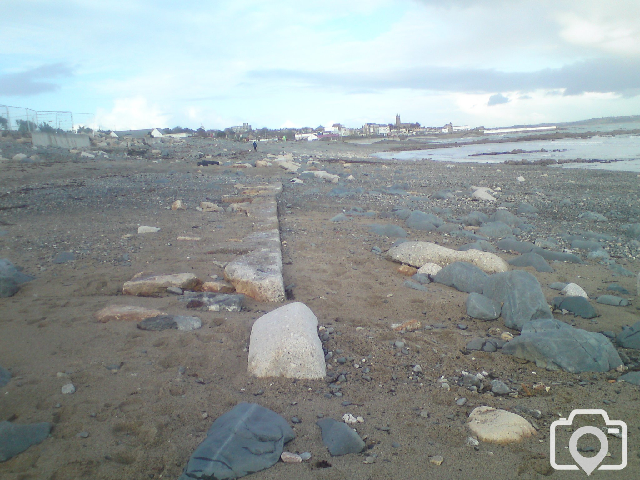
[[329, 74], [298, 70], [253, 70], [252, 81], [295, 82], [311, 87], [340, 87], [347, 91], [410, 88], [436, 92], [531, 92], [538, 88], [564, 90], [564, 95], [584, 92], [617, 92], [630, 95], [640, 89], [640, 59], [580, 61], [561, 68], [534, 72], [501, 72], [495, 69], [433, 67], [424, 65], [395, 72]]

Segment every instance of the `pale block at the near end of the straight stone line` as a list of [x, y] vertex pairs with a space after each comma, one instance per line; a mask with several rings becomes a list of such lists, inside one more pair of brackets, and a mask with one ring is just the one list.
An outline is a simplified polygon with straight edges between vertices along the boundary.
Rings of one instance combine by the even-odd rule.
[[232, 260], [225, 267], [225, 280], [253, 300], [284, 301], [280, 247], [260, 248]]

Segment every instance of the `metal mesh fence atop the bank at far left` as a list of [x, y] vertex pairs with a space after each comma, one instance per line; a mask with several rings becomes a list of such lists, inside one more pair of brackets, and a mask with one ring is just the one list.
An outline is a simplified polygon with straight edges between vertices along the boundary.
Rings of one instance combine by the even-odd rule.
[[94, 124], [93, 113], [36, 111], [30, 108], [0, 105], [0, 130], [32, 132], [52, 129], [75, 132], [81, 126], [94, 129]]

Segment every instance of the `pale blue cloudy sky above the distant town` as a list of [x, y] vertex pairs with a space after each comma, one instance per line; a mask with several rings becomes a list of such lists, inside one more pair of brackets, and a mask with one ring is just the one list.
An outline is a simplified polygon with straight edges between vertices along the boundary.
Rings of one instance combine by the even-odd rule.
[[0, 104], [102, 129], [640, 114], [637, 0], [20, 0], [0, 31]]

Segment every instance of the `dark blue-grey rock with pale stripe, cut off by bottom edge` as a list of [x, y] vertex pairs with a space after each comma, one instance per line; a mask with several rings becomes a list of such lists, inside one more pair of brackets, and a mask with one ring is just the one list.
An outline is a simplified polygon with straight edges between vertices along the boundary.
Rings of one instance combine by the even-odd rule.
[[236, 479], [269, 468], [295, 438], [287, 420], [255, 403], [240, 403], [213, 422], [179, 480]]

